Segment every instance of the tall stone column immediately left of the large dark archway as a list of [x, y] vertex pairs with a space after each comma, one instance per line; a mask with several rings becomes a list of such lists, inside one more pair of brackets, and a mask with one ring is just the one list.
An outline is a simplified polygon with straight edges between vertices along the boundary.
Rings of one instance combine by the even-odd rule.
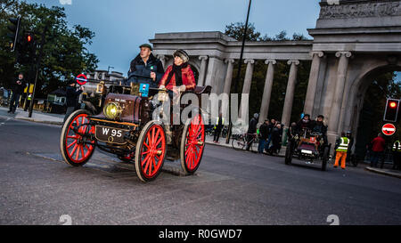
[[348, 60], [351, 56], [349, 52], [338, 52], [336, 57], [340, 58], [337, 68], [336, 88], [334, 89], [333, 100], [331, 103], [331, 112], [329, 117], [328, 135], [331, 143], [335, 141], [337, 129], [340, 124], [340, 110], [342, 104], [342, 96], [344, 94], [344, 86], [347, 79]]

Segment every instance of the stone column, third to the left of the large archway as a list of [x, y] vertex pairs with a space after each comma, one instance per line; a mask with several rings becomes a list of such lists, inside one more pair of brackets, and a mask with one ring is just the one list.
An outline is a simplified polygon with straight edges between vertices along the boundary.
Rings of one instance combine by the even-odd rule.
[[291, 65], [291, 69], [288, 77], [287, 91], [285, 92], [284, 108], [282, 109], [282, 123], [285, 127], [290, 126], [292, 101], [294, 101], [299, 61], [290, 60], [287, 63], [288, 65]]

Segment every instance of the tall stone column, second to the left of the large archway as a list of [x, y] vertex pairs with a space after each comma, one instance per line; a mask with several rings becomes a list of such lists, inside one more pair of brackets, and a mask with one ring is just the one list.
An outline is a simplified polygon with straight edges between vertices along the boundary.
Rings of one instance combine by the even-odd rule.
[[304, 113], [312, 116], [315, 104], [317, 80], [319, 78], [320, 62], [324, 53], [312, 52], [311, 55], [313, 57], [313, 61], [310, 68], [309, 81], [307, 83], [307, 97], [305, 99]]

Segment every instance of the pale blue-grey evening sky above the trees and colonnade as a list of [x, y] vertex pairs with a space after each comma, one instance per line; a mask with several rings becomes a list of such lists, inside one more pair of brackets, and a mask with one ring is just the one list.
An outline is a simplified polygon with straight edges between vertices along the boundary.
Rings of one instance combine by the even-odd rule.
[[[99, 69], [109, 66], [127, 76], [129, 61], [138, 45], [155, 33], [224, 31], [230, 22], [245, 21], [248, 0], [26, 0], [46, 6], [63, 6], [72, 26], [80, 24], [95, 33], [88, 49], [99, 58]], [[286, 30], [308, 38], [315, 28], [318, 0], [253, 0], [250, 22], [259, 32], [274, 36]]]

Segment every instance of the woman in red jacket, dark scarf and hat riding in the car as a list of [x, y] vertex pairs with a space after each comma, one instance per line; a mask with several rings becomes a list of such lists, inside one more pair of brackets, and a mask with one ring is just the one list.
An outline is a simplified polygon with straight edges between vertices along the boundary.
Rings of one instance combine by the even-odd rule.
[[196, 86], [191, 66], [188, 64], [189, 56], [184, 50], [173, 53], [174, 63], [168, 66], [166, 73], [160, 80], [159, 87], [168, 89], [171, 98], [174, 93], [183, 93], [193, 90]]

